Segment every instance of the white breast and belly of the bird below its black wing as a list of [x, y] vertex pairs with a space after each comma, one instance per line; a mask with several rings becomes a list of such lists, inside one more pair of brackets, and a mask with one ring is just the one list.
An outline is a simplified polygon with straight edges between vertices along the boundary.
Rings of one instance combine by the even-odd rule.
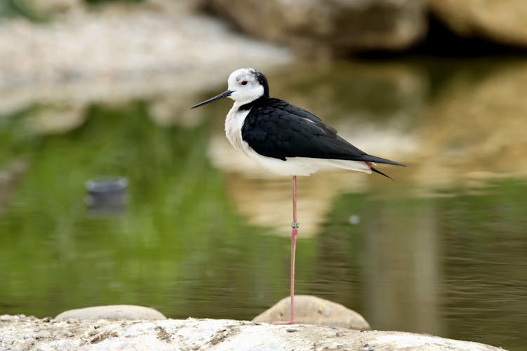
[[365, 173], [372, 173], [372, 170], [365, 162], [362, 161], [345, 161], [339, 159], [313, 159], [310, 157], [289, 157], [285, 161], [275, 159], [273, 157], [266, 157], [258, 152], [252, 150], [249, 144], [242, 139], [242, 126], [245, 117], [249, 114], [249, 110], [238, 112], [238, 102], [235, 102], [233, 107], [227, 114], [225, 119], [225, 135], [230, 144], [236, 150], [245, 152], [247, 156], [256, 161], [262, 168], [271, 173], [280, 176], [310, 176], [320, 168], [323, 167], [337, 167], [350, 169], [353, 171], [361, 171]]

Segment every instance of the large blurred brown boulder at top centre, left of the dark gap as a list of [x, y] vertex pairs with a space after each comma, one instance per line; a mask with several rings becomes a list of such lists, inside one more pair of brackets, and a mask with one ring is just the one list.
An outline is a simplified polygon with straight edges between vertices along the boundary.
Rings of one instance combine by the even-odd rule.
[[401, 50], [427, 32], [422, 0], [209, 0], [209, 6], [254, 37], [311, 56]]

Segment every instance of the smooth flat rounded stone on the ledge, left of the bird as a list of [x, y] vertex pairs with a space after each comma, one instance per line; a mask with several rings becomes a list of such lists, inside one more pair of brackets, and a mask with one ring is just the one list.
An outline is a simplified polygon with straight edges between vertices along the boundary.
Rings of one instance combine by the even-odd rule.
[[158, 319], [167, 319], [160, 312], [153, 308], [135, 306], [135, 305], [108, 305], [108, 306], [93, 306], [86, 308], [79, 308], [77, 310], [69, 310], [58, 314], [55, 319], [65, 321], [67, 319], [83, 319], [83, 320], [97, 320], [97, 319], [127, 319], [127, 320], [148, 320], [154, 321]]

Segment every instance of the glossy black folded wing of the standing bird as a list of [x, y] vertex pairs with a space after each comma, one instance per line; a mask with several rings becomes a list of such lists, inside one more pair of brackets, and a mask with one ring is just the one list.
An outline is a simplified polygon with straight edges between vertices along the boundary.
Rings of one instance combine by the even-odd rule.
[[275, 159], [313, 157], [403, 166], [366, 154], [339, 137], [337, 131], [314, 114], [273, 98], [251, 106], [242, 127], [242, 139], [254, 151]]

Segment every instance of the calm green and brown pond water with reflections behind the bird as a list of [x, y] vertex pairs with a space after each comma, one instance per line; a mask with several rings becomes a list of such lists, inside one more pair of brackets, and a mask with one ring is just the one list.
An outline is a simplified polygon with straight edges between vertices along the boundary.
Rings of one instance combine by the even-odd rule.
[[[527, 62], [299, 63], [268, 78], [271, 95], [408, 164], [379, 166], [396, 182], [299, 178], [297, 292], [375, 329], [524, 347]], [[188, 110], [224, 88], [4, 101], [0, 313], [138, 304], [252, 319], [287, 296], [290, 180], [231, 150], [229, 102]], [[109, 176], [129, 180], [120, 215], [84, 204], [86, 180]]]

